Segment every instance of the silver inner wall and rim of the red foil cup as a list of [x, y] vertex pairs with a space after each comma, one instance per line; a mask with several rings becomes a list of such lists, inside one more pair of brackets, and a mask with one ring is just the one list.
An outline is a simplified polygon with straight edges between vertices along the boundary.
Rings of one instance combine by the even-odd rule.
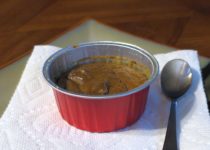
[[[53, 54], [45, 63], [43, 74], [50, 86], [58, 89], [66, 94], [71, 94], [74, 96], [83, 96], [83, 94], [76, 94], [57, 86], [56, 82], [58, 77], [64, 72], [69, 71], [74, 66], [79, 63], [88, 63], [90, 59], [85, 60], [89, 57], [94, 56], [116, 56], [116, 57], [126, 57], [136, 61], [137, 63], [144, 64], [149, 68], [150, 77], [147, 82], [139, 87], [130, 90], [125, 93], [120, 93], [122, 96], [126, 94], [131, 94], [133, 92], [139, 91], [147, 87], [158, 74], [158, 63], [156, 59], [148, 53], [146, 50], [141, 49], [137, 46], [119, 43], [119, 42], [92, 42], [84, 43], [78, 45], [77, 47], [67, 47], [59, 52]], [[83, 60], [83, 61], [81, 61]], [[144, 69], [143, 69], [144, 70]], [[90, 98], [110, 98], [119, 96], [119, 94], [109, 95], [109, 96], [90, 96]], [[86, 98], [88, 95], [85, 95]]]

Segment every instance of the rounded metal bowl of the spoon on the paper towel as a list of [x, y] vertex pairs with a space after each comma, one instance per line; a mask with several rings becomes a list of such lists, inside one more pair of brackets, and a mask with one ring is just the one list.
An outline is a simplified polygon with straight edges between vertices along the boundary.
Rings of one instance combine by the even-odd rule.
[[189, 64], [182, 59], [169, 61], [161, 73], [163, 92], [172, 100], [182, 96], [190, 87], [192, 71]]

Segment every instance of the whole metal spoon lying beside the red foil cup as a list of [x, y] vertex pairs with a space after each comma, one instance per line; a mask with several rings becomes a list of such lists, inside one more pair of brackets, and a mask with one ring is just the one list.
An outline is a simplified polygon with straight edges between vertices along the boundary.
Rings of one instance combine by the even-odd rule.
[[177, 150], [176, 103], [190, 87], [192, 71], [189, 64], [182, 59], [169, 61], [161, 73], [161, 88], [171, 98], [171, 110], [163, 150]]

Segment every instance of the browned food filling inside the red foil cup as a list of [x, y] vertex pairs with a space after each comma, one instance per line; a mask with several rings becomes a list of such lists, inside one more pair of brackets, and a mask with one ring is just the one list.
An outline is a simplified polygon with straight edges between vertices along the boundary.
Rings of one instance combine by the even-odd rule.
[[114, 58], [77, 65], [63, 75], [58, 84], [76, 93], [108, 95], [136, 88], [148, 78], [149, 69], [146, 66], [132, 60]]

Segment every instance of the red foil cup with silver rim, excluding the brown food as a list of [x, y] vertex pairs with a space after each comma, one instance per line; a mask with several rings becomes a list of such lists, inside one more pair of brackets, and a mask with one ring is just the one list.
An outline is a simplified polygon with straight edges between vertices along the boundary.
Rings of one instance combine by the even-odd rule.
[[[122, 56], [145, 64], [150, 78], [143, 85], [124, 93], [90, 96], [69, 92], [56, 84], [57, 78], [90, 56]], [[143, 114], [149, 85], [158, 75], [158, 62], [146, 50], [121, 42], [91, 42], [67, 47], [50, 56], [43, 75], [52, 87], [61, 116], [70, 125], [90, 132], [110, 132], [127, 127]]]

